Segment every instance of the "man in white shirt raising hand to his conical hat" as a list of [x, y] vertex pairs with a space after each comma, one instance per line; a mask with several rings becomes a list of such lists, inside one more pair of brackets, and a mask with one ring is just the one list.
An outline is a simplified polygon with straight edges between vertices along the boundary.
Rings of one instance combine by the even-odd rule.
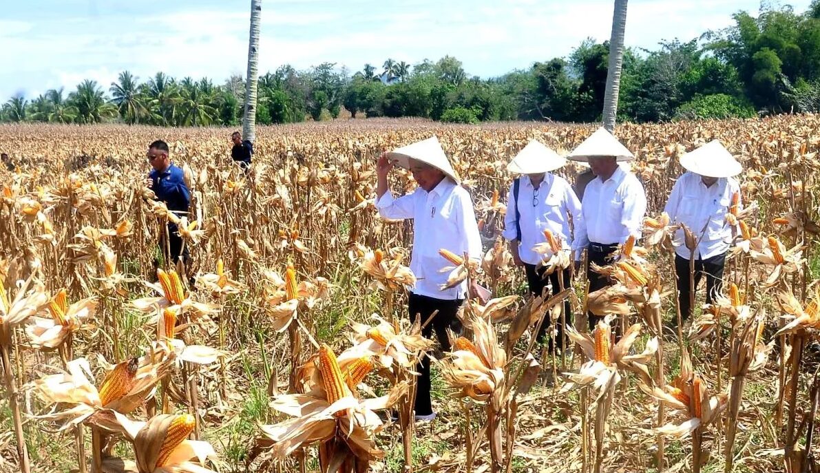
[[[399, 198], [394, 198], [390, 192], [387, 179], [395, 164], [408, 168], [418, 184], [413, 193]], [[416, 285], [408, 298], [410, 317], [421, 317], [423, 325], [433, 312], [438, 311], [422, 334], [432, 338], [435, 330], [441, 349], [449, 351], [447, 329], [457, 334], [461, 332], [456, 312], [468, 293], [466, 282], [452, 289], [442, 289], [448, 275], [441, 270], [452, 263], [444, 259], [439, 250], [449, 250], [458, 257], [467, 253], [470, 259], [481, 260], [481, 235], [470, 194], [458, 185], [458, 175], [435, 136], [381, 155], [376, 174], [376, 207], [380, 216], [413, 220], [410, 269], [416, 275]], [[430, 403], [429, 360], [422, 360], [417, 371], [420, 375], [416, 419], [431, 421], [435, 412]]]

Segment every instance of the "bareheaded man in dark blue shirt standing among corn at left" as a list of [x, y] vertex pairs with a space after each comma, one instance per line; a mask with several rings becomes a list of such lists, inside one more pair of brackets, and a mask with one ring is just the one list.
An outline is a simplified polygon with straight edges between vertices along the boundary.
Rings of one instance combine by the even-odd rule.
[[[148, 162], [153, 170], [148, 174], [146, 185], [153, 190], [157, 200], [165, 202], [168, 210], [174, 212], [176, 216], [183, 216], [188, 213], [191, 201], [188, 186], [185, 185], [185, 176], [182, 170], [171, 164], [171, 157], [168, 156], [168, 143], [157, 139], [148, 146]], [[188, 248], [183, 251], [182, 238], [177, 233], [175, 223], [168, 222], [168, 248], [171, 253], [171, 261], [177, 263], [182, 257], [182, 262], [188, 266]], [[165, 250], [165, 238], [160, 238], [160, 247]]]

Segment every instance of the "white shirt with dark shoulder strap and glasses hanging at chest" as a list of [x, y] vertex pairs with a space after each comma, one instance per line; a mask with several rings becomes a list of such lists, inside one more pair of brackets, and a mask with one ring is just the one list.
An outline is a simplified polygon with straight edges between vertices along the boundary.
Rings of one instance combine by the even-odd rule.
[[[540, 262], [540, 254], [532, 251], [538, 243], [547, 241], [544, 230], [550, 230], [563, 240], [563, 248], [567, 251], [572, 248], [572, 233], [569, 229], [569, 218], [572, 216], [572, 225], [577, 227], [581, 221], [581, 202], [572, 190], [572, 186], [563, 177], [550, 174], [535, 189], [530, 177], [522, 175], [518, 185], [518, 212], [521, 226], [521, 246], [518, 256], [521, 261], [535, 265]], [[508, 240], [517, 238], [516, 234], [516, 199], [512, 195], [512, 185], [507, 196], [507, 215], [504, 216], [503, 237]]]

